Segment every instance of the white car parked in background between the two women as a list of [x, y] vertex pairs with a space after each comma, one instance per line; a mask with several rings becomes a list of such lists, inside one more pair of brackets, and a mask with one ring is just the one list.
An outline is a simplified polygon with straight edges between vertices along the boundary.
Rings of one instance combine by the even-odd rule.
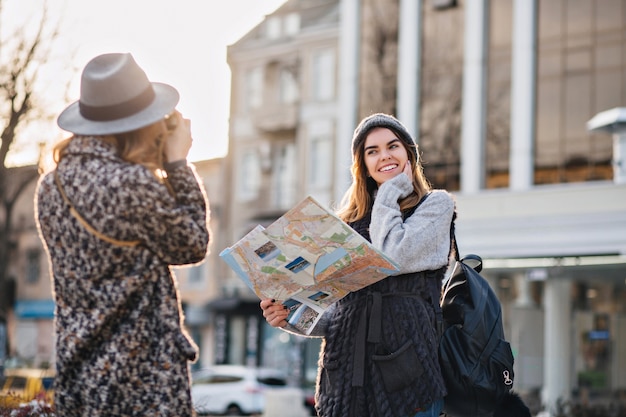
[[198, 414], [261, 414], [265, 391], [286, 386], [279, 370], [216, 365], [192, 372], [191, 399]]

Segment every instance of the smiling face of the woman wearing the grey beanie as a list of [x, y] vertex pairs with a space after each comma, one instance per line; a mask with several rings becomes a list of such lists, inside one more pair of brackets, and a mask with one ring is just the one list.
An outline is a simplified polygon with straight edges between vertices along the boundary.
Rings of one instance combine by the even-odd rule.
[[363, 160], [367, 173], [378, 185], [402, 173], [409, 155], [391, 130], [378, 127], [365, 138]]

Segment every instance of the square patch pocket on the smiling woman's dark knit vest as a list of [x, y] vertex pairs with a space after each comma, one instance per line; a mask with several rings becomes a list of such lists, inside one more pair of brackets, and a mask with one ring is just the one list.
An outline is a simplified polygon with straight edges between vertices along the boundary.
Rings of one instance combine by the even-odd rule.
[[387, 392], [411, 385], [424, 373], [424, 367], [411, 340], [391, 354], [372, 355], [372, 361], [380, 371]]

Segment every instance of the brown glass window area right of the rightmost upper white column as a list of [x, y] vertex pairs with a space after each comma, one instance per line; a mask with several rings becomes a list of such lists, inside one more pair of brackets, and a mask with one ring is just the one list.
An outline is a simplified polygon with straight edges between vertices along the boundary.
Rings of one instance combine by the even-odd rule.
[[623, 0], [541, 0], [538, 10], [535, 183], [613, 177], [609, 135], [596, 113], [626, 102]]

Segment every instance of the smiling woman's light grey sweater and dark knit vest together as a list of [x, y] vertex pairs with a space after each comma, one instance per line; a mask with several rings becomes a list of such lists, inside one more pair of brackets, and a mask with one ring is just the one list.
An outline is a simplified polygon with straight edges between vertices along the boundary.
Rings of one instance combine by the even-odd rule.
[[411, 191], [406, 175], [385, 182], [369, 233], [367, 225], [351, 224], [369, 234], [400, 272], [338, 301], [314, 329], [313, 336], [324, 338], [316, 393], [320, 416], [409, 417], [446, 394], [435, 309], [455, 205], [449, 193], [435, 190], [403, 220], [398, 200]]

